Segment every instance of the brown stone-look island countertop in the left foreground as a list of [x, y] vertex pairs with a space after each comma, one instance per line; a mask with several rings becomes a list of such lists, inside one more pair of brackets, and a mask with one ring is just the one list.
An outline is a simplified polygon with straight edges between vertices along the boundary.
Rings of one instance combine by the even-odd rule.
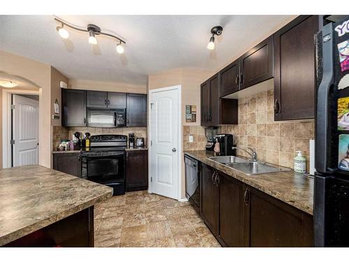
[[112, 197], [112, 189], [43, 166], [0, 170], [0, 246]]

